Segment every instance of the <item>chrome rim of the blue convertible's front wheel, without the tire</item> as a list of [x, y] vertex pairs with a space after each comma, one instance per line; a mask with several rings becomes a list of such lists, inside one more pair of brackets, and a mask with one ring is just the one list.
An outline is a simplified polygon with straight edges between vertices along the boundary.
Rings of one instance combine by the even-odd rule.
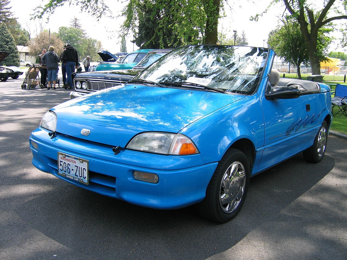
[[[325, 146], [324, 146], [325, 147]], [[230, 213], [239, 205], [246, 185], [245, 168], [242, 163], [232, 163], [223, 175], [220, 185], [219, 203], [225, 213]]]

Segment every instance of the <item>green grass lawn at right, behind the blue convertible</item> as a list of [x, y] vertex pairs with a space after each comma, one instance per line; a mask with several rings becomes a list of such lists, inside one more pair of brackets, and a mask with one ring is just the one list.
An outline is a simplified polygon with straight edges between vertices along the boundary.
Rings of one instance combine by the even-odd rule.
[[[280, 73], [280, 76], [283, 77], [283, 73]], [[307, 80], [307, 76], [310, 76], [310, 74], [301, 74], [302, 79]], [[344, 75], [338, 75], [338, 76], [337, 75], [323, 75], [323, 76], [324, 76], [323, 77], [323, 83], [325, 83], [325, 84], [337, 84], [337, 83], [339, 83], [339, 84], [347, 86], [347, 82], [344, 82], [344, 77], [345, 77]], [[296, 73], [285, 73], [285, 77], [297, 79], [297, 74]], [[346, 81], [347, 81], [347, 79], [346, 79]], [[335, 87], [331, 86], [331, 89], [335, 90]], [[335, 109], [334, 109], [334, 111], [335, 111]], [[340, 114], [333, 117], [330, 130], [336, 131], [339, 133], [344, 133], [347, 135], [347, 118], [344, 115], [341, 115], [339, 117], [339, 115]]]

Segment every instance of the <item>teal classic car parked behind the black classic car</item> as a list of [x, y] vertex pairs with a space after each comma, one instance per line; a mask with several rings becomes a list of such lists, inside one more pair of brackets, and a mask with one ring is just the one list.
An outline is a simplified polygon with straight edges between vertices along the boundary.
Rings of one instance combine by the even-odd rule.
[[[139, 63], [149, 51], [153, 51], [153, 49], [145, 49], [145, 50], [136, 50], [128, 53], [121, 62], [112, 62], [101, 61], [98, 65], [94, 67], [94, 71], [102, 71], [102, 70], [122, 70], [122, 69], [132, 69]], [[100, 54], [99, 54], [100, 55]]]

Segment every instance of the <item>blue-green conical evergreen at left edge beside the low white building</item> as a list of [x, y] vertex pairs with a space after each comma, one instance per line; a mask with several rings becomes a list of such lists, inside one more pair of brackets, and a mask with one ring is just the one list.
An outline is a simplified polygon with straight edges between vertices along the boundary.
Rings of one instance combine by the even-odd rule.
[[0, 50], [10, 53], [10, 55], [1, 62], [1, 65], [19, 66], [17, 46], [5, 23], [0, 23]]

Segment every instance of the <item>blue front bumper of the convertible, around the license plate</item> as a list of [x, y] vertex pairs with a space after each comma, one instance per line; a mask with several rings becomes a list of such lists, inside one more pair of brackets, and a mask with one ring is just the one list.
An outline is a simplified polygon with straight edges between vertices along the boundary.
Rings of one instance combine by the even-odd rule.
[[[81, 188], [148, 208], [177, 209], [202, 201], [218, 164], [204, 164], [200, 154], [166, 156], [121, 149], [115, 155], [112, 147], [59, 133], [51, 139], [48, 132], [38, 128], [29, 138], [36, 168]], [[58, 152], [89, 161], [89, 185], [58, 175]], [[159, 181], [135, 180], [134, 171], [154, 173]]]

